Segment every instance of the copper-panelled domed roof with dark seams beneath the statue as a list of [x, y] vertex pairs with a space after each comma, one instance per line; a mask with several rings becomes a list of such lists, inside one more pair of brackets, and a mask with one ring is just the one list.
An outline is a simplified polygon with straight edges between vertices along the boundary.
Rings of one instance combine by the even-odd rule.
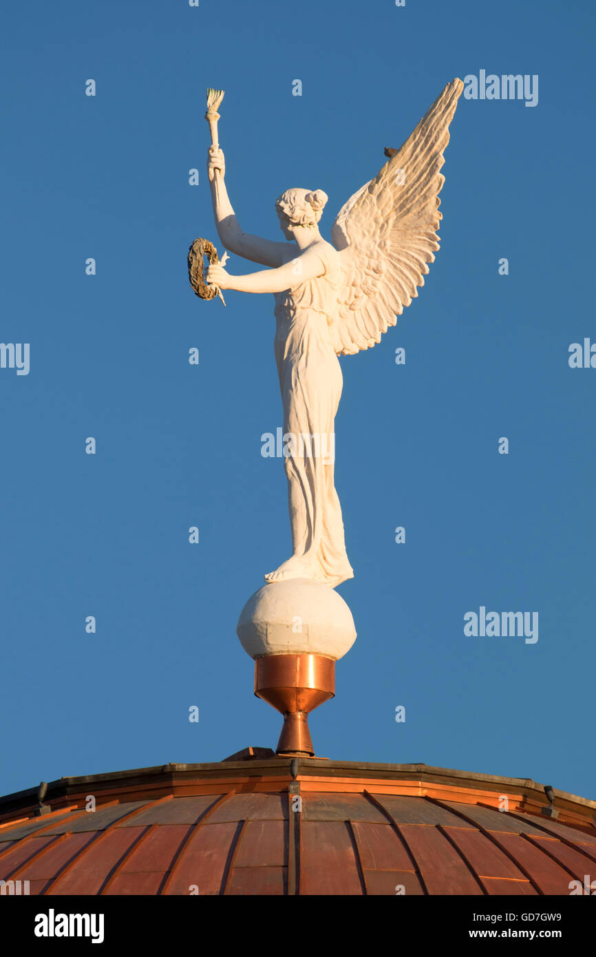
[[248, 748], [44, 791], [0, 798], [0, 879], [32, 895], [567, 895], [596, 862], [596, 802], [426, 765]]

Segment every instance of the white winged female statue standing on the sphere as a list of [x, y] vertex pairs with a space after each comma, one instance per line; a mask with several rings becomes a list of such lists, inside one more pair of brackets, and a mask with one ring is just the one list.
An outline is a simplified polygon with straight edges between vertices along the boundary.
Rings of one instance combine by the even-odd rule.
[[219, 237], [232, 253], [269, 268], [231, 276], [214, 263], [207, 281], [220, 289], [273, 293], [276, 300], [293, 553], [265, 575], [267, 582], [306, 578], [335, 588], [353, 577], [329, 454], [342, 394], [338, 356], [380, 342], [424, 285], [427, 263], [439, 248], [438, 193], [445, 181], [440, 169], [462, 89], [460, 79], [448, 83], [401, 149], [345, 203], [331, 229], [333, 246], [319, 232], [327, 201], [322, 189], [286, 189], [277, 199], [288, 242], [243, 233], [224, 184], [224, 154], [216, 142], [210, 147]]

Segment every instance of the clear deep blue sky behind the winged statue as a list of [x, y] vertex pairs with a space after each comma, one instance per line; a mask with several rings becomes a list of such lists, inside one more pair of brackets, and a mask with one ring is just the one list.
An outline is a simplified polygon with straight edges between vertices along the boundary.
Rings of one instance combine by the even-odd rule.
[[[242, 227], [281, 239], [276, 196], [324, 189], [328, 238], [384, 147], [485, 69], [538, 74], [539, 104], [459, 101], [426, 285], [381, 345], [342, 359], [356, 577], [340, 591], [358, 639], [310, 724], [334, 759], [596, 797], [596, 368], [567, 363], [596, 342], [593, 6], [34, 0], [3, 34], [0, 340], [30, 343], [31, 370], [0, 369], [0, 791], [276, 746], [235, 635], [290, 551], [282, 463], [260, 456], [281, 424], [273, 300], [224, 308], [188, 286], [190, 242], [217, 241], [206, 87], [226, 90]], [[538, 642], [467, 637], [480, 606], [539, 612]]]

